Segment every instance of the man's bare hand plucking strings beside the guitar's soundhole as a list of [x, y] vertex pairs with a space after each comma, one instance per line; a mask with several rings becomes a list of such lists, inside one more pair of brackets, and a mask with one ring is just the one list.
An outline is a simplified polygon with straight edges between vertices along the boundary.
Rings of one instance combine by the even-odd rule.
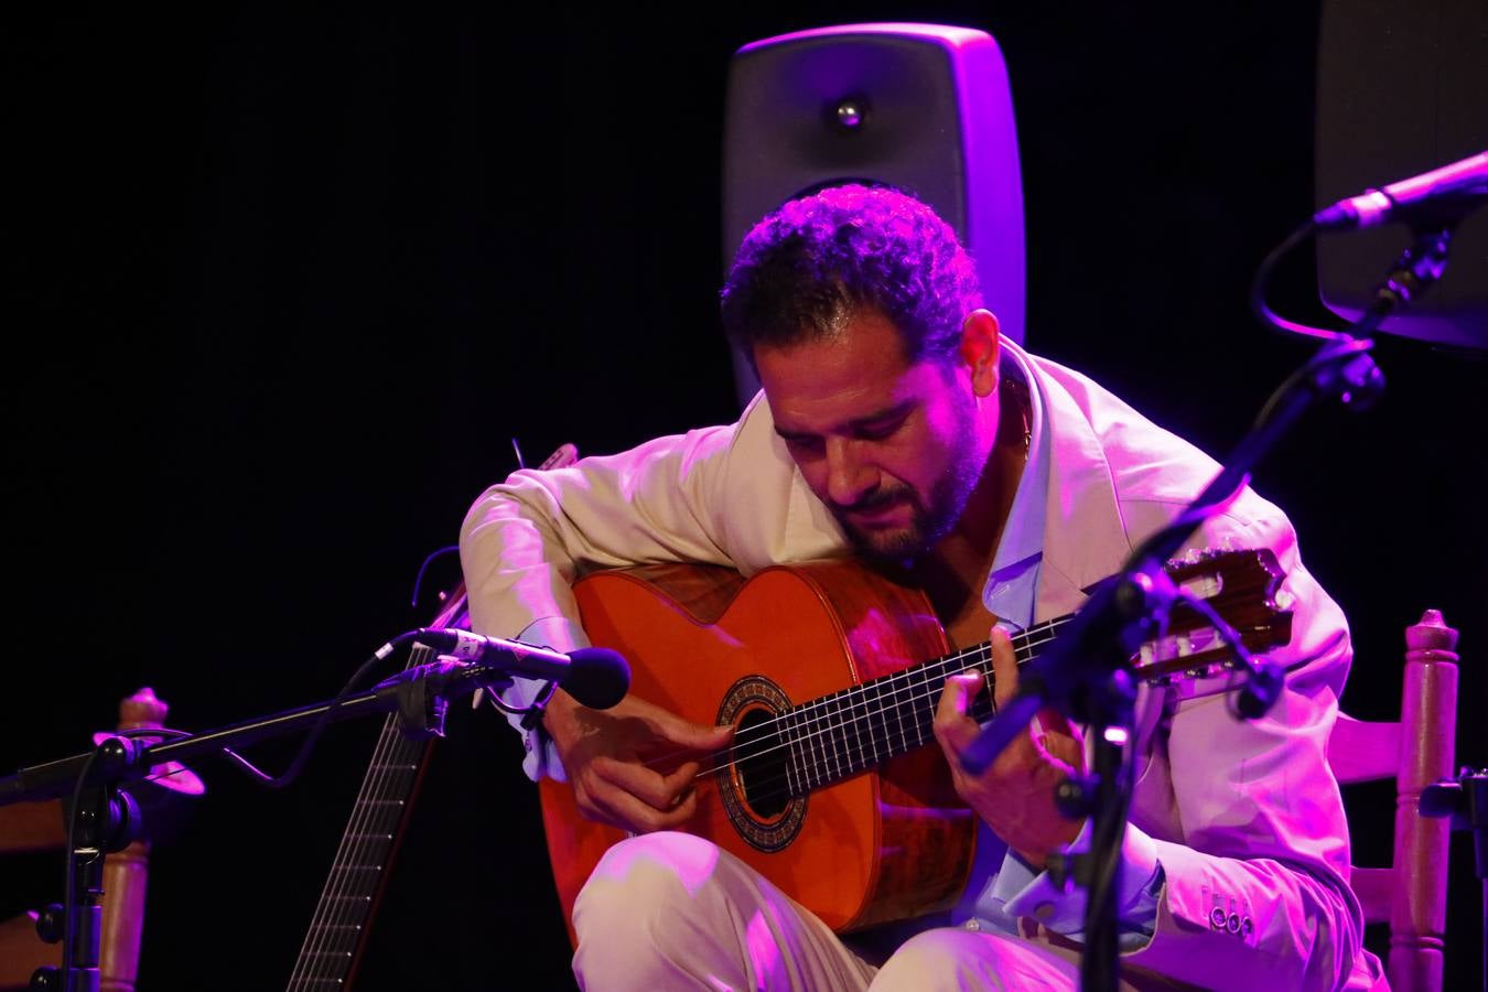
[[698, 759], [734, 727], [692, 723], [635, 696], [610, 709], [580, 706], [562, 690], [543, 717], [588, 819], [632, 833], [674, 830], [698, 808]]

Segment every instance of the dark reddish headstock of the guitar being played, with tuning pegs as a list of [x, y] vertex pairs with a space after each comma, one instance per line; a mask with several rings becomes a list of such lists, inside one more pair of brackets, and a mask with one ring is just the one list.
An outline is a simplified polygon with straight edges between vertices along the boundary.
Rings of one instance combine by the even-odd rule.
[[[1271, 549], [1189, 552], [1168, 562], [1167, 573], [1234, 628], [1247, 651], [1263, 654], [1292, 640], [1292, 604]], [[1143, 644], [1134, 662], [1143, 680], [1159, 683], [1211, 678], [1240, 665], [1208, 617], [1186, 604], [1174, 607], [1167, 634]]]

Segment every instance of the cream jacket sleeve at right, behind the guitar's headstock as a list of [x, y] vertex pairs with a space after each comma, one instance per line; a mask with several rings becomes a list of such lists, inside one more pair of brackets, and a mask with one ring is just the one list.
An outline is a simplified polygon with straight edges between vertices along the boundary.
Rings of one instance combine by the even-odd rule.
[[1140, 806], [1161, 811], [1147, 833], [1165, 885], [1150, 943], [1123, 962], [1208, 988], [1367, 986], [1348, 824], [1327, 766], [1348, 626], [1303, 568], [1281, 512], [1253, 495], [1237, 510], [1196, 543], [1277, 553], [1293, 631], [1271, 657], [1286, 686], [1257, 720], [1232, 712], [1229, 680], [1167, 692], [1137, 788]]

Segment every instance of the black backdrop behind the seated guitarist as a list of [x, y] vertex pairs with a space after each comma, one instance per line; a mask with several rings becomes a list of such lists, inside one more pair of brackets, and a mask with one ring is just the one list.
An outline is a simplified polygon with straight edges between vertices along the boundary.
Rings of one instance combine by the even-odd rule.
[[[513, 436], [537, 461], [732, 418], [723, 80], [783, 31], [991, 31], [1019, 116], [1030, 348], [1223, 454], [1311, 351], [1260, 329], [1245, 292], [1314, 208], [1317, 7], [998, 6], [798, 3], [711, 27], [557, 4], [7, 13], [0, 770], [79, 751], [141, 684], [183, 729], [332, 695], [432, 619], [455, 565], [411, 608], [414, 574], [515, 467]], [[1308, 266], [1281, 280], [1315, 315]], [[1463, 635], [1458, 757], [1484, 763], [1488, 366], [1388, 339], [1379, 361], [1384, 402], [1312, 415], [1256, 485], [1350, 613], [1345, 706], [1397, 712], [1402, 628], [1439, 607]], [[278, 793], [201, 769], [207, 797], [155, 855], [143, 989], [283, 986], [375, 736], [332, 730]], [[362, 988], [567, 983], [519, 754], [494, 718], [455, 721]], [[253, 757], [280, 770], [289, 750]], [[1391, 805], [1351, 800], [1359, 861], [1387, 858]], [[1452, 875], [1448, 986], [1469, 988], [1461, 837]], [[57, 858], [0, 879], [0, 915], [61, 894]]]

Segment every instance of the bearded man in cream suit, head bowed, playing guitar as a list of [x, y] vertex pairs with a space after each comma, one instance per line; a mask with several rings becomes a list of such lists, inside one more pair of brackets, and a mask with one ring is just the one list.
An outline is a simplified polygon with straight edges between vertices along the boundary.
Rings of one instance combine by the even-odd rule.
[[[698, 562], [754, 576], [856, 553], [921, 589], [952, 648], [992, 631], [1006, 699], [1018, 681], [1009, 632], [1074, 611], [1217, 468], [1100, 385], [1001, 339], [951, 229], [897, 192], [827, 189], [762, 220], [735, 259], [723, 321], [763, 385], [737, 424], [518, 471], [482, 494], [461, 531], [478, 632], [583, 647], [570, 586], [595, 570]], [[1222, 678], [1140, 695], [1122, 982], [1369, 988], [1379, 970], [1360, 946], [1324, 760], [1350, 660], [1344, 617], [1302, 567], [1286, 516], [1250, 489], [1193, 546], [1274, 552], [1293, 610], [1274, 656], [1290, 671], [1254, 721], [1228, 712]], [[701, 756], [726, 748], [732, 726], [638, 695], [600, 712], [555, 693], [525, 729], [528, 772], [565, 779], [583, 817], [634, 834], [574, 904], [580, 983], [1073, 988], [1083, 891], [1056, 886], [1045, 864], [1088, 831], [1054, 803], [1083, 767], [1079, 729], [1042, 714], [972, 776], [957, 757], [987, 690], [975, 674], [943, 686], [934, 739], [978, 822], [964, 892], [845, 935], [679, 831], [699, 815]], [[698, 760], [650, 763], [676, 751]]]

